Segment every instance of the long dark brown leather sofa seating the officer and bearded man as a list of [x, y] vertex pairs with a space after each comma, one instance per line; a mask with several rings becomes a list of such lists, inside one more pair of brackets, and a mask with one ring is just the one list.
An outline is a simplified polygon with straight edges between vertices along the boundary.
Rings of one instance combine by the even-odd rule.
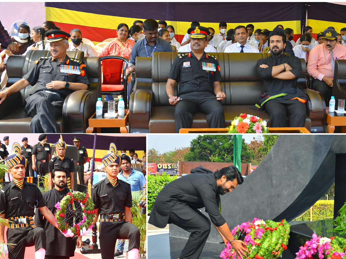
[[[174, 106], [169, 104], [165, 86], [176, 55], [175, 52], [154, 52], [152, 58], [137, 57], [136, 81], [130, 97], [131, 133], [175, 133]], [[263, 81], [257, 75], [256, 63], [268, 55], [271, 54], [216, 54], [221, 68], [221, 87], [226, 93], [226, 99], [221, 101], [226, 126], [241, 113], [253, 114], [269, 121], [268, 113], [251, 109], [261, 98], [263, 87]], [[298, 85], [308, 97], [305, 127], [312, 133], [324, 133], [326, 105], [320, 93], [307, 87], [306, 63], [304, 59], [301, 62], [303, 73], [298, 79]], [[176, 84], [175, 94], [177, 87]], [[196, 113], [192, 128], [208, 128], [206, 116]]]

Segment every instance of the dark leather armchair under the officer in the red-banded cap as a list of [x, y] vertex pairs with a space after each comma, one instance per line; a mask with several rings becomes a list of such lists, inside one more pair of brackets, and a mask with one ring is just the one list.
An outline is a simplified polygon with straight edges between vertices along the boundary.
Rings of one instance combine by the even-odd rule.
[[[7, 61], [8, 83], [11, 86], [22, 78], [40, 57], [49, 57], [46, 50], [29, 50], [26, 56], [12, 55]], [[67, 56], [83, 60], [90, 87], [69, 94], [63, 105], [63, 113], [56, 123], [61, 133], [85, 133], [88, 118], [95, 112], [97, 98], [101, 97], [101, 66], [99, 57], [84, 57], [83, 51], [67, 51]], [[35, 86], [28, 85], [17, 93], [11, 93], [0, 104], [0, 132], [29, 133], [31, 117], [24, 112], [25, 99], [33, 94]]]

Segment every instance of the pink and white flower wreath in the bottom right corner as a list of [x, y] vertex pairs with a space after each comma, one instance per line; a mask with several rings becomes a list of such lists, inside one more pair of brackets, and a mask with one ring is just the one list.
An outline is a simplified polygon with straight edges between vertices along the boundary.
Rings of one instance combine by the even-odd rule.
[[321, 238], [314, 233], [312, 239], [306, 241], [295, 254], [296, 259], [342, 259], [345, 256], [345, 250], [345, 238]]

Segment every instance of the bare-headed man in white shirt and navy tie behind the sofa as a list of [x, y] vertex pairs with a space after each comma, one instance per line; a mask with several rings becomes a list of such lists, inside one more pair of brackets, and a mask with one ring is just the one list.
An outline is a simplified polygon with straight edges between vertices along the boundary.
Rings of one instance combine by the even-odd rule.
[[224, 53], [260, 53], [257, 48], [247, 43], [247, 29], [243, 25], [239, 25], [234, 29], [234, 37], [237, 43], [226, 47]]

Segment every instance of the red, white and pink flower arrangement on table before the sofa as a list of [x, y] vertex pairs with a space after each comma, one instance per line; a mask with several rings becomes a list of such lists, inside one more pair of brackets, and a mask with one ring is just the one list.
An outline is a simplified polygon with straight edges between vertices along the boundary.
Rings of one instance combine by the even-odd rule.
[[269, 133], [266, 121], [246, 113], [235, 117], [231, 126], [227, 128], [228, 133]]

